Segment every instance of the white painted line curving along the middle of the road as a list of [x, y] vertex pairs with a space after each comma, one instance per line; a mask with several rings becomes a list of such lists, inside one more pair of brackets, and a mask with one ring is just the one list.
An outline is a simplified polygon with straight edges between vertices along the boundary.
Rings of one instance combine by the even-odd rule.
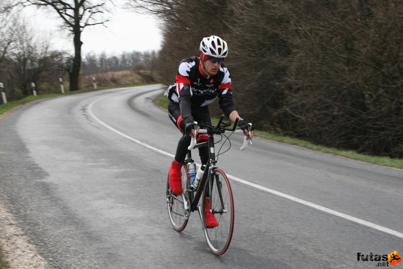
[[[132, 91], [132, 89], [129, 90], [129, 91], [124, 91], [124, 92], [119, 92], [119, 93], [116, 93], [116, 94], [108, 95], [108, 96], [105, 96], [105, 97], [102, 97], [102, 98], [99, 98], [99, 99], [95, 100], [94, 102], [92, 102], [92, 103], [88, 106], [88, 111], [89, 111], [90, 115], [91, 115], [96, 121], [98, 121], [100, 124], [102, 124], [103, 126], [105, 126], [105, 127], [108, 128], [108, 129], [110, 129], [111, 131], [113, 131], [113, 132], [119, 134], [120, 136], [122, 136], [122, 137], [124, 137], [124, 138], [126, 138], [126, 139], [128, 139], [128, 140], [131, 140], [131, 141], [133, 141], [133, 142], [136, 142], [136, 143], [138, 143], [138, 144], [140, 144], [140, 145], [142, 145], [142, 146], [144, 146], [144, 147], [146, 147], [146, 148], [148, 148], [148, 149], [154, 150], [154, 151], [156, 151], [156, 152], [159, 152], [159, 153], [161, 153], [161, 154], [164, 154], [164, 155], [166, 155], [166, 156], [169, 156], [169, 157], [171, 157], [171, 158], [174, 158], [175, 156], [174, 156], [173, 154], [170, 154], [170, 153], [168, 153], [168, 152], [166, 152], [166, 151], [163, 151], [163, 150], [157, 149], [157, 148], [155, 148], [155, 147], [152, 147], [152, 146], [150, 146], [150, 145], [148, 145], [148, 144], [146, 144], [146, 143], [144, 143], [144, 142], [141, 142], [141, 141], [139, 141], [139, 140], [137, 140], [137, 139], [134, 139], [134, 138], [128, 136], [127, 134], [124, 134], [124, 133], [121, 132], [121, 131], [116, 130], [115, 128], [109, 126], [108, 124], [106, 124], [105, 122], [103, 122], [102, 120], [100, 120], [100, 119], [99, 119], [97, 116], [95, 116], [94, 113], [92, 112], [91, 108], [92, 108], [92, 106], [93, 106], [96, 102], [98, 102], [98, 101], [100, 101], [100, 100], [102, 100], [102, 99], [105, 99], [105, 98], [109, 98], [109, 97], [112, 97], [112, 96], [115, 96], [115, 95], [118, 95], [118, 94], [124, 94], [124, 93], [130, 92], [130, 91]], [[200, 164], [199, 164], [199, 165], [200, 165]], [[280, 192], [280, 191], [277, 191], [277, 190], [274, 190], [274, 189], [271, 189], [271, 188], [263, 187], [263, 186], [261, 186], [261, 185], [258, 185], [258, 184], [252, 183], [252, 182], [250, 182], [250, 181], [244, 180], [244, 179], [242, 179], [242, 178], [238, 178], [238, 177], [235, 177], [235, 176], [232, 176], [232, 175], [229, 175], [229, 174], [227, 174], [227, 176], [228, 176], [229, 178], [231, 178], [232, 180], [235, 180], [235, 181], [237, 181], [237, 182], [239, 182], [239, 183], [242, 183], [242, 184], [245, 184], [245, 185], [248, 185], [248, 186], [251, 186], [251, 187], [260, 189], [260, 190], [263, 190], [263, 191], [265, 191], [265, 192], [272, 193], [272, 194], [274, 194], [274, 195], [278, 195], [278, 196], [280, 196], [280, 197], [289, 199], [289, 200], [294, 201], [294, 202], [296, 202], [296, 203], [299, 203], [299, 204], [301, 204], [301, 205], [304, 205], [304, 206], [307, 206], [307, 207], [310, 207], [310, 208], [313, 208], [313, 209], [316, 209], [316, 210], [325, 212], [325, 213], [327, 213], [327, 214], [331, 214], [331, 215], [333, 215], [333, 216], [337, 216], [337, 217], [346, 219], [346, 220], [348, 220], [348, 221], [352, 221], [352, 222], [355, 222], [355, 223], [358, 223], [358, 224], [367, 226], [367, 227], [369, 227], [369, 228], [372, 228], [372, 229], [375, 229], [375, 230], [378, 230], [378, 231], [381, 231], [381, 232], [384, 232], [384, 233], [387, 233], [387, 234], [390, 234], [390, 235], [393, 235], [393, 236], [396, 236], [396, 237], [399, 237], [399, 238], [403, 239], [403, 233], [401, 233], [401, 232], [398, 232], [398, 231], [395, 231], [395, 230], [392, 230], [392, 229], [389, 229], [389, 228], [386, 228], [386, 227], [383, 227], [383, 226], [374, 224], [374, 223], [372, 223], [372, 222], [364, 221], [364, 220], [362, 220], [362, 219], [359, 219], [359, 218], [356, 218], [356, 217], [353, 217], [353, 216], [350, 216], [350, 215], [347, 215], [347, 214], [344, 214], [344, 213], [341, 213], [341, 212], [338, 212], [338, 211], [334, 211], [334, 210], [331, 210], [331, 209], [328, 209], [328, 208], [325, 208], [325, 207], [316, 205], [316, 204], [311, 203], [311, 202], [309, 202], [309, 201], [306, 201], [306, 200], [303, 200], [303, 199], [300, 199], [300, 198], [297, 198], [297, 197], [288, 195], [288, 194], [286, 194], [286, 193], [283, 193], [283, 192]]]

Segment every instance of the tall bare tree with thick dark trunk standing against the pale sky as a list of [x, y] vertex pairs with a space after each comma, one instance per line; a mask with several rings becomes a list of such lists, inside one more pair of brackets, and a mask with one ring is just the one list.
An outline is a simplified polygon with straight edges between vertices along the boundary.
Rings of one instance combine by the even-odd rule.
[[22, 0], [23, 6], [37, 6], [38, 8], [50, 8], [62, 20], [62, 25], [69, 29], [73, 35], [74, 59], [71, 66], [70, 90], [79, 89], [79, 76], [81, 66], [81, 34], [84, 28], [98, 24], [104, 24], [108, 20], [102, 18], [104, 14], [104, 1], [91, 0]]

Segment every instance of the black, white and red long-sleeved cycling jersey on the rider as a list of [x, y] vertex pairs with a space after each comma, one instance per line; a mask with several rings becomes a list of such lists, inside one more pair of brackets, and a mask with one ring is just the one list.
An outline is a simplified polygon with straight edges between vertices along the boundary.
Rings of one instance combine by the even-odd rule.
[[192, 122], [191, 107], [206, 106], [219, 97], [224, 114], [236, 110], [232, 101], [231, 76], [228, 68], [221, 63], [215, 76], [206, 77], [201, 71], [199, 57], [189, 57], [179, 62], [175, 84], [168, 88], [168, 99], [179, 103], [185, 123]]

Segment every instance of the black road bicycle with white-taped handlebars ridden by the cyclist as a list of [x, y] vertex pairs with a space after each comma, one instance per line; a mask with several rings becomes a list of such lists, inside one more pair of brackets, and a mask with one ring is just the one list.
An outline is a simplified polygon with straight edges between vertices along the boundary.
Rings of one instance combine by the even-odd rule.
[[[166, 187], [168, 215], [173, 228], [177, 232], [183, 231], [189, 220], [190, 213], [197, 210], [207, 244], [211, 251], [216, 255], [222, 255], [225, 253], [230, 245], [232, 233], [234, 231], [234, 198], [227, 175], [216, 165], [216, 157], [220, 155], [220, 151], [216, 156], [214, 135], [218, 134], [221, 136], [221, 139], [223, 139], [224, 132], [230, 131], [231, 134], [234, 133], [239, 119], [236, 119], [233, 128], [229, 128], [231, 123], [223, 123], [223, 119], [224, 115], [221, 116], [217, 126], [200, 125], [200, 127], [203, 128], [199, 129], [197, 133], [208, 133], [207, 142], [197, 143], [196, 138], [191, 139], [187, 157], [182, 164], [182, 193], [176, 195], [170, 190], [168, 184], [169, 174]], [[197, 130], [197, 122], [194, 123], [194, 129]], [[252, 124], [249, 123], [248, 131], [250, 138], [251, 126]], [[224, 135], [228, 141], [231, 134], [229, 136]], [[249, 141], [250, 144], [252, 144], [252, 141]], [[246, 136], [244, 136], [241, 150], [244, 150], [247, 144], [248, 141], [246, 140]], [[199, 147], [209, 147], [209, 161], [206, 164], [198, 187], [194, 189], [190, 184], [187, 164], [194, 162], [191, 158], [191, 150]], [[200, 198], [201, 205], [199, 205]], [[206, 225], [206, 198], [210, 198], [209, 212], [214, 214], [219, 224], [214, 228], [208, 228]]]

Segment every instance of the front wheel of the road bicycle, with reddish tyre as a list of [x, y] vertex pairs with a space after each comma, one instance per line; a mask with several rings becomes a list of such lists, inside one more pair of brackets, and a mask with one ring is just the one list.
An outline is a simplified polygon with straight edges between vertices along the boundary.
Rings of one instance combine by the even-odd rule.
[[[215, 168], [213, 177], [213, 180], [208, 180], [210, 182], [205, 185], [201, 202], [203, 230], [211, 251], [216, 255], [222, 255], [227, 251], [234, 231], [234, 199], [227, 175], [221, 169]], [[218, 226], [214, 228], [207, 228], [206, 225], [205, 208], [208, 195], [212, 213], [218, 221]]]

